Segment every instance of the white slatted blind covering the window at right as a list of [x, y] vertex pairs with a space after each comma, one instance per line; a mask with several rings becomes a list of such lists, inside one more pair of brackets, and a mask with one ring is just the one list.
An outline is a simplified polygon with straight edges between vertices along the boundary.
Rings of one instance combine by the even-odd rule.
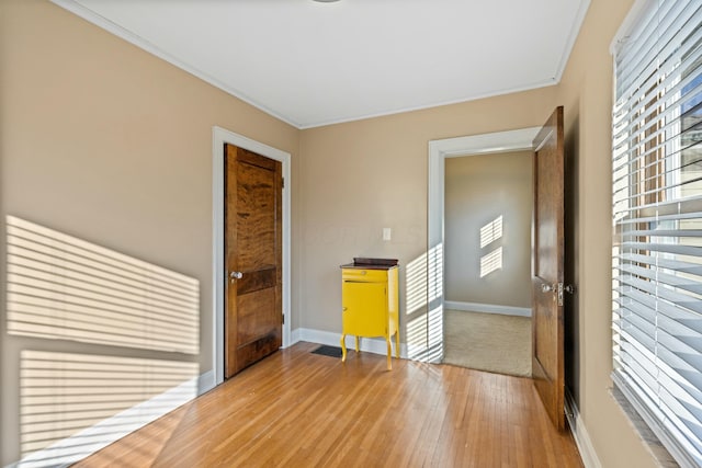
[[679, 464], [702, 466], [702, 2], [647, 1], [629, 24], [614, 48], [613, 380]]

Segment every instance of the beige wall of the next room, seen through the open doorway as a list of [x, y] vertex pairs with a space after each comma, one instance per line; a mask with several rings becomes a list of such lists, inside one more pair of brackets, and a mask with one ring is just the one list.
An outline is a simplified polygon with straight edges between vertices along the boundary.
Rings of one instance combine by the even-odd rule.
[[[444, 171], [444, 298], [531, 308], [532, 153], [448, 158]], [[501, 216], [502, 236], [480, 247], [480, 228]], [[502, 249], [480, 275], [480, 258]]]

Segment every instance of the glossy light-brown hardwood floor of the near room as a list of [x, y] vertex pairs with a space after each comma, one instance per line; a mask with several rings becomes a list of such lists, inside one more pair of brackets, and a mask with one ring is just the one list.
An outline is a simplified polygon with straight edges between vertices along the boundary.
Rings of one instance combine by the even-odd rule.
[[76, 467], [581, 467], [528, 378], [298, 343]]

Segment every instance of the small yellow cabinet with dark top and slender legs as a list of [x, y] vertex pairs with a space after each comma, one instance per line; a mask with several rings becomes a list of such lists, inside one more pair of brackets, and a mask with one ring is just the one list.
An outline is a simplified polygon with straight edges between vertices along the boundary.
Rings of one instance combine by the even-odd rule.
[[387, 368], [392, 369], [392, 341], [399, 358], [399, 295], [397, 260], [353, 259], [341, 265], [341, 361], [347, 359], [347, 334], [382, 336], [387, 343]]

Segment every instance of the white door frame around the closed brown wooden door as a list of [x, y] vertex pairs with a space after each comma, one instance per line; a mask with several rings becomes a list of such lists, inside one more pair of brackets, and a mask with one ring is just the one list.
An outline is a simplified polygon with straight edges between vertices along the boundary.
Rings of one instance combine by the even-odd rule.
[[224, 381], [224, 145], [231, 144], [276, 161], [283, 170], [283, 344], [287, 347], [291, 339], [291, 155], [262, 142], [235, 134], [225, 128], [212, 127], [212, 304], [213, 361], [215, 385]]

